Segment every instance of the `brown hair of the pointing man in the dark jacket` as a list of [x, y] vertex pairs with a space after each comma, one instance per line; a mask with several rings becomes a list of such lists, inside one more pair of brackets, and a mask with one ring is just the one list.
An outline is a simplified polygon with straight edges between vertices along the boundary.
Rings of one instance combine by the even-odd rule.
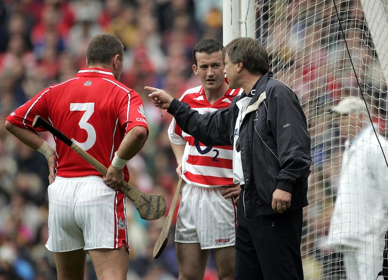
[[230, 41], [222, 50], [225, 61], [227, 53], [231, 63], [243, 63], [243, 67], [252, 74], [265, 74], [269, 71], [268, 53], [258, 40], [250, 37], [238, 37]]

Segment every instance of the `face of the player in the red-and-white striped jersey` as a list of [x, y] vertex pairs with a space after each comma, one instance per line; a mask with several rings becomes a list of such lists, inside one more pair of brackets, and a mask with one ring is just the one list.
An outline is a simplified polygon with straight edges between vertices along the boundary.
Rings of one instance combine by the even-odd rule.
[[193, 65], [194, 73], [199, 77], [205, 90], [217, 90], [225, 85], [224, 62], [222, 52], [197, 52], [197, 64]]

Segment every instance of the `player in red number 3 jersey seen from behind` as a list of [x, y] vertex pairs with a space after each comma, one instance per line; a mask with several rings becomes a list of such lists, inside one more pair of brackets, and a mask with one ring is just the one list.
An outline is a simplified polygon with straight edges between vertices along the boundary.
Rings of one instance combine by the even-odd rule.
[[[58, 279], [82, 280], [89, 254], [98, 280], [126, 280], [129, 244], [126, 163], [144, 146], [148, 127], [142, 99], [118, 82], [124, 48], [112, 34], [98, 34], [86, 49], [78, 74], [43, 89], [12, 112], [5, 127], [46, 156], [49, 165], [49, 239]], [[105, 177], [70, 147], [55, 150], [33, 129], [41, 115], [74, 143], [108, 167]]]

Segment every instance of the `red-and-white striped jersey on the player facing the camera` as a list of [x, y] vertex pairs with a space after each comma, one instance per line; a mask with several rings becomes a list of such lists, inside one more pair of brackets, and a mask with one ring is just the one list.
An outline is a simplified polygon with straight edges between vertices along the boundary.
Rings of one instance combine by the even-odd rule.
[[[242, 89], [228, 89], [225, 95], [213, 104], [206, 98], [203, 86], [188, 89], [179, 99], [190, 104], [200, 114], [213, 112], [230, 105], [231, 100], [242, 93]], [[171, 143], [186, 145], [182, 157], [182, 179], [202, 187], [233, 185], [232, 146], [207, 147], [193, 136], [183, 132], [175, 119], [168, 129]]]

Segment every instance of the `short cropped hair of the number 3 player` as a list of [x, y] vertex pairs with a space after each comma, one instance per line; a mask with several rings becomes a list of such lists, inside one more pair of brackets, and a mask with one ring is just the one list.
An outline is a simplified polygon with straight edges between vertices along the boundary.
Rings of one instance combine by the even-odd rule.
[[109, 65], [116, 54], [119, 54], [120, 59], [123, 60], [124, 46], [119, 38], [109, 33], [94, 36], [86, 48], [88, 65]]

